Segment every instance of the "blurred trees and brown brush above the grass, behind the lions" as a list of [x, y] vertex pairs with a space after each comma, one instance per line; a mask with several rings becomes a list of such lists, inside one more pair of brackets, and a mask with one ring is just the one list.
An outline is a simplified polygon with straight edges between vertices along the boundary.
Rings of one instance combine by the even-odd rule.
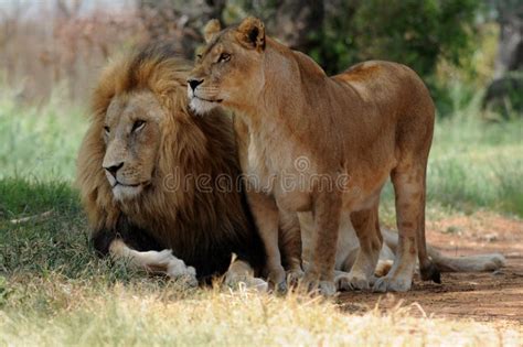
[[46, 100], [56, 87], [84, 102], [115, 53], [163, 39], [193, 58], [207, 20], [227, 25], [248, 14], [329, 74], [365, 59], [413, 67], [441, 117], [478, 91], [490, 117], [523, 110], [521, 0], [10, 0], [0, 4], [0, 80], [22, 102]]

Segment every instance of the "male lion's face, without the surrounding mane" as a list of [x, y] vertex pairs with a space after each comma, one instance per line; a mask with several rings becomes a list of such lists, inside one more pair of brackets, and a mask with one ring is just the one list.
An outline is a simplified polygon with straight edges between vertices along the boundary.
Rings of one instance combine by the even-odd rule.
[[103, 129], [103, 169], [117, 200], [139, 195], [152, 180], [160, 147], [162, 108], [150, 91], [116, 96]]

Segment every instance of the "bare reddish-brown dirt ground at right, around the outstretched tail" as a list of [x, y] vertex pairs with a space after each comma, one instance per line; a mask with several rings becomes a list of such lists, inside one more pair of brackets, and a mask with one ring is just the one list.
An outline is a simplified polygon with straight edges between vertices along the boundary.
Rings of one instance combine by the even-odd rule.
[[376, 305], [383, 310], [410, 306], [419, 315], [522, 326], [522, 220], [489, 213], [452, 217], [428, 223], [427, 239], [448, 256], [500, 252], [506, 258], [506, 267], [495, 272], [442, 273], [442, 284], [417, 279], [408, 293], [342, 293], [344, 307], [363, 312]]

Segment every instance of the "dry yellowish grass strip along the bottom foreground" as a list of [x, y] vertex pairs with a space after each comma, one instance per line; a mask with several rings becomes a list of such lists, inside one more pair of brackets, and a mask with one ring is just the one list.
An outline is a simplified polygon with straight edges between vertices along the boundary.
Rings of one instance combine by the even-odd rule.
[[[344, 312], [335, 301], [320, 297], [281, 299], [217, 289], [184, 291], [175, 283], [160, 280], [106, 286], [82, 280], [73, 283], [51, 275], [24, 283], [22, 292], [13, 295], [24, 299], [11, 301], [17, 304], [0, 312], [0, 345], [517, 346], [523, 343], [521, 326], [424, 317], [415, 305], [354, 315]], [[42, 310], [44, 306], [46, 310]]]

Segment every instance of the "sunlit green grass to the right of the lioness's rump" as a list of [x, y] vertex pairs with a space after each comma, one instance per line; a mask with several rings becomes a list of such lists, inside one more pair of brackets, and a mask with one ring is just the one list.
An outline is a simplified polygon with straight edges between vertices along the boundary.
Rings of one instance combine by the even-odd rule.
[[[485, 122], [474, 112], [436, 124], [427, 176], [427, 212], [471, 214], [480, 208], [523, 217], [523, 119]], [[383, 194], [394, 220], [391, 184]]]

